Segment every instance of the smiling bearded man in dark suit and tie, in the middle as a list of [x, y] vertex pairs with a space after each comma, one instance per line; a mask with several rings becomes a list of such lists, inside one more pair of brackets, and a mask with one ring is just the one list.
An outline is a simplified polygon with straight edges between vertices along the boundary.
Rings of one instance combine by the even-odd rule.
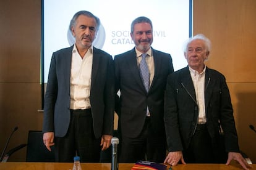
[[[117, 114], [121, 131], [120, 163], [163, 163], [166, 155], [163, 106], [166, 78], [173, 73], [171, 55], [151, 48], [153, 30], [147, 17], [136, 18], [130, 36], [135, 48], [114, 57]], [[147, 67], [143, 79], [142, 54]]]

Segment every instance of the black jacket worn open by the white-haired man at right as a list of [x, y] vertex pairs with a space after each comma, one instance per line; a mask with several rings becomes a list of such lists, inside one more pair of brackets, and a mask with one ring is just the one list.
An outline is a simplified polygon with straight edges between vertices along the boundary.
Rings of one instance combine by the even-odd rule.
[[[164, 123], [169, 152], [181, 151], [189, 146], [195, 132], [198, 105], [189, 67], [168, 77], [164, 103]], [[218, 145], [219, 123], [224, 131], [227, 152], [239, 152], [233, 107], [224, 76], [216, 70], [206, 69], [205, 110], [207, 129]]]

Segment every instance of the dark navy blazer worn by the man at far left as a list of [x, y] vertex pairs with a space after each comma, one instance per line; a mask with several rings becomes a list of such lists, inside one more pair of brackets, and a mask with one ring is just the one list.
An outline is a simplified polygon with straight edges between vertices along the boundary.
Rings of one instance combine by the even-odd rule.
[[[43, 119], [43, 132], [64, 137], [70, 121], [70, 68], [72, 47], [53, 53]], [[113, 134], [114, 119], [114, 65], [113, 57], [93, 47], [90, 103], [96, 138]]]

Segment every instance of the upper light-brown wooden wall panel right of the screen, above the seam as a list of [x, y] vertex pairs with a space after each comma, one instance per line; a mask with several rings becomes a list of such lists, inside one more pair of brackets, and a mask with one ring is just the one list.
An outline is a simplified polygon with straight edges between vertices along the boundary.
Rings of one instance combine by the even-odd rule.
[[256, 82], [256, 1], [194, 0], [194, 34], [213, 44], [208, 65], [229, 82]]

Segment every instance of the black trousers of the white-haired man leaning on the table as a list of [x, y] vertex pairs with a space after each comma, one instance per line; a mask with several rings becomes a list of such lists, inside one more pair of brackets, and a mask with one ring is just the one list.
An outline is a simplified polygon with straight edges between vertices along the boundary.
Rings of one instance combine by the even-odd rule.
[[186, 163], [218, 163], [218, 153], [213, 147], [205, 124], [197, 124], [189, 148], [183, 151]]

